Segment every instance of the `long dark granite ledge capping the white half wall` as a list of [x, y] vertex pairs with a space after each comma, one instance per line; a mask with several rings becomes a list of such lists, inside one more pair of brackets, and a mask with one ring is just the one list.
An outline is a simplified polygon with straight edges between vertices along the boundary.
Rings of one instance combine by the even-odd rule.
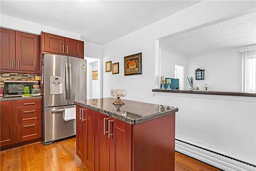
[[160, 89], [154, 89], [154, 90], [152, 90], [152, 92], [256, 97], [256, 93], [225, 92], [225, 91], [200, 91], [200, 90], [189, 91], [189, 90], [160, 90]]

